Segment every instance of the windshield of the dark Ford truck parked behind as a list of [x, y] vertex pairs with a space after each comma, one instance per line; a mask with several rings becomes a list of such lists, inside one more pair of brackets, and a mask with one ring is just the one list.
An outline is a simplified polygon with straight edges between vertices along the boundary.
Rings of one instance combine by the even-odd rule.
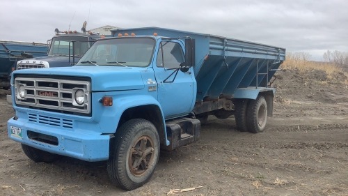
[[[90, 47], [88, 37], [84, 36], [60, 36], [52, 39], [51, 48], [49, 49], [49, 55], [52, 56], [68, 56], [69, 55], [69, 43], [74, 41], [74, 55], [82, 56]], [[72, 43], [70, 43], [70, 55], [72, 55]]]

